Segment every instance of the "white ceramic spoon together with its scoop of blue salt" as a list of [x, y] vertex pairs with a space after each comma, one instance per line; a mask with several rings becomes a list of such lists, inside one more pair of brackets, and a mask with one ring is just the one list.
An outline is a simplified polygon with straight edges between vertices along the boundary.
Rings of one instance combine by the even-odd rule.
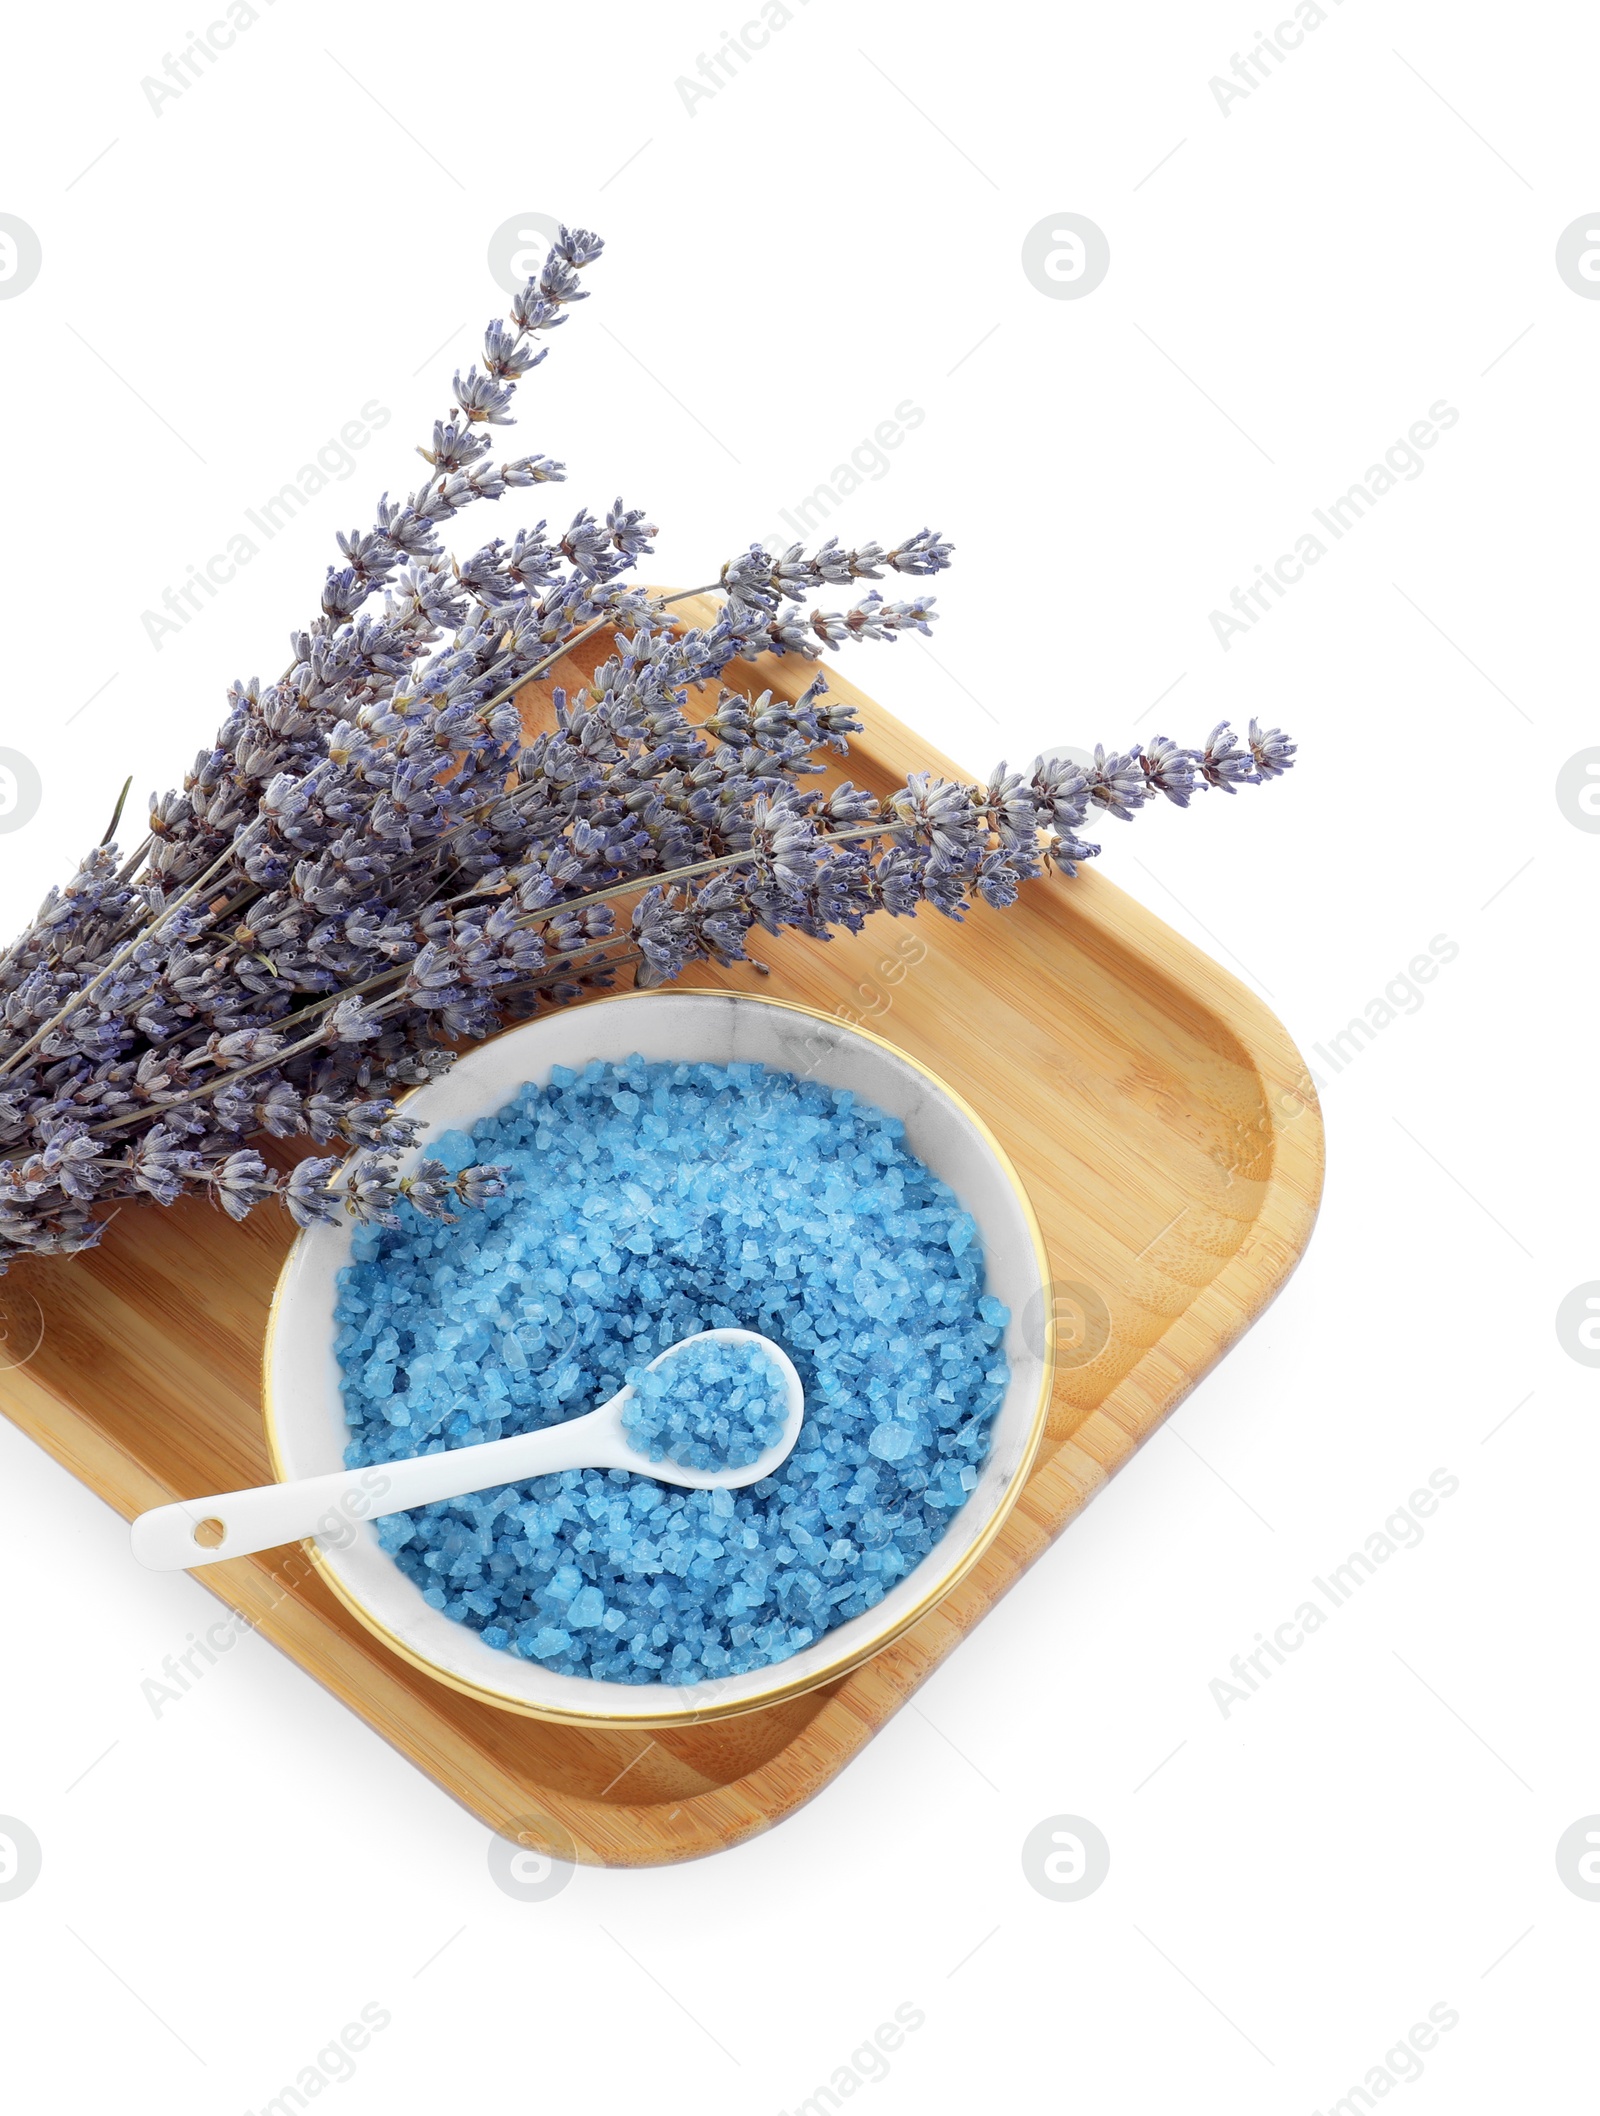
[[180, 1572], [303, 1536], [347, 1540], [356, 1521], [565, 1469], [624, 1469], [698, 1492], [739, 1492], [783, 1466], [804, 1407], [781, 1346], [749, 1329], [707, 1329], [669, 1346], [599, 1409], [559, 1426], [152, 1507], [131, 1524], [133, 1555], [152, 1572]]

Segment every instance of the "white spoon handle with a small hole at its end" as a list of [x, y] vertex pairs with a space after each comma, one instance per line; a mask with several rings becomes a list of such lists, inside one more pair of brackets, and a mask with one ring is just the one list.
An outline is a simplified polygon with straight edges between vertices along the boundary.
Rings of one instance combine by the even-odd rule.
[[622, 1469], [631, 1456], [616, 1418], [618, 1403], [620, 1397], [614, 1397], [586, 1418], [476, 1447], [447, 1447], [442, 1454], [408, 1456], [372, 1469], [337, 1469], [296, 1483], [258, 1483], [248, 1492], [178, 1498], [133, 1521], [133, 1555], [152, 1572], [180, 1572], [298, 1543], [303, 1536], [317, 1536], [341, 1549], [356, 1538], [362, 1521], [383, 1513], [404, 1513], [406, 1507], [463, 1498], [468, 1492], [493, 1492], [563, 1469]]

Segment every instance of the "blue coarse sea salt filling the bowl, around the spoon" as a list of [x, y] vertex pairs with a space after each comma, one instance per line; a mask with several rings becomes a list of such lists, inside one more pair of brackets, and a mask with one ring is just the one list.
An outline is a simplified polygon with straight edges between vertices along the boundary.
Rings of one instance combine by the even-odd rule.
[[504, 1164], [506, 1196], [362, 1229], [337, 1306], [351, 1469], [578, 1418], [705, 1329], [772, 1337], [806, 1392], [794, 1454], [739, 1492], [563, 1471], [387, 1515], [432, 1608], [559, 1674], [701, 1682], [787, 1659], [933, 1549], [988, 1456], [1010, 1314], [895, 1117], [635, 1056], [557, 1066], [430, 1151]]

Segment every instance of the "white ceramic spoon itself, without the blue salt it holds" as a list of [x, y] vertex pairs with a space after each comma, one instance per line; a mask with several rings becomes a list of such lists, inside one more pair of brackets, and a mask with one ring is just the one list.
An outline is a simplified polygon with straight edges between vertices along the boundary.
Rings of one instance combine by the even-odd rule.
[[483, 1441], [478, 1447], [447, 1447], [442, 1454], [408, 1456], [402, 1462], [379, 1462], [372, 1469], [337, 1469], [326, 1477], [301, 1477], [296, 1483], [260, 1483], [250, 1492], [214, 1492], [210, 1498], [178, 1498], [169, 1507], [152, 1507], [131, 1528], [133, 1555], [152, 1572], [178, 1572], [186, 1566], [214, 1566], [226, 1557], [248, 1557], [279, 1543], [303, 1536], [326, 1536], [349, 1543], [356, 1524], [381, 1513], [404, 1513], [406, 1507], [428, 1507], [436, 1498], [466, 1498], [468, 1492], [493, 1492], [529, 1477], [548, 1477], [563, 1469], [629, 1469], [656, 1483], [681, 1483], [696, 1492], [737, 1492], [745, 1483], [770, 1477], [800, 1439], [804, 1390], [789, 1354], [753, 1329], [705, 1329], [669, 1346], [650, 1367], [662, 1367], [690, 1344], [753, 1344], [783, 1371], [787, 1407], [783, 1437], [745, 1462], [743, 1469], [681, 1469], [677, 1462], [652, 1462], [622, 1430], [622, 1409], [633, 1388], [618, 1390], [610, 1403], [584, 1418], [569, 1418], [542, 1433], [516, 1433], [504, 1441]]

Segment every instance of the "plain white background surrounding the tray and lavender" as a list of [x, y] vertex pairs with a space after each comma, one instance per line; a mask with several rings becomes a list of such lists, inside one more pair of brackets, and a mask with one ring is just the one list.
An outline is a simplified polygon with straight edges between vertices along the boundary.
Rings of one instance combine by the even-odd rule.
[[[377, 2002], [341, 2108], [762, 2116], [910, 2002], [874, 2108], [1295, 2112], [1446, 2002], [1407, 2108], [1577, 2108], [1600, 1902], [1553, 1854], [1600, 1809], [1600, 1447], [1553, 1318], [1600, 1276], [1600, 840], [1553, 787], [1600, 743], [1600, 303], [1553, 252], [1600, 205], [1600, 28], [1329, 0], [1223, 112], [1276, 17], [789, 6], [692, 112], [677, 76], [743, 19], [709, 0], [258, 0], [159, 112], [197, 17], [11, 23], [0, 209], [44, 267], [0, 303], [0, 747], [44, 798], [0, 836], [4, 923], [277, 671], [502, 307], [491, 233], [544, 212], [607, 239], [519, 398], [571, 482], [493, 527], [622, 491], [654, 578], [703, 580], [910, 398], [828, 527], [931, 521], [957, 569], [927, 645], [851, 673], [974, 768], [1289, 726], [1280, 785], [1103, 838], [1302, 1050], [1433, 935], [1458, 956], [1319, 1062], [1323, 1219], [1255, 1333], [821, 1799], [694, 1866], [508, 1900], [483, 1826], [260, 1640], [154, 1718], [212, 1600], [0, 1426], [0, 1811], [44, 1845], [0, 1902], [8, 2086], [260, 2110]], [[1020, 264], [1062, 212], [1111, 245], [1081, 300]], [[157, 652], [163, 588], [370, 398], [356, 474]], [[1223, 650], [1234, 584], [1437, 400], [1424, 472]], [[1435, 1469], [1422, 1545], [1223, 1716], [1230, 1657]], [[1111, 1845], [1081, 1902], [1022, 1871], [1058, 1813]]]

